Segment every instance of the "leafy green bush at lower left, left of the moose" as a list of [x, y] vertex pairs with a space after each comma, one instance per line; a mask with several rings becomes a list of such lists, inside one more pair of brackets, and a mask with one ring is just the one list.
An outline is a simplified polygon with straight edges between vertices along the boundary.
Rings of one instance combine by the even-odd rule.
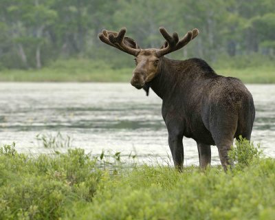
[[83, 149], [54, 156], [0, 148], [0, 219], [58, 219], [74, 201], [91, 201], [101, 171]]

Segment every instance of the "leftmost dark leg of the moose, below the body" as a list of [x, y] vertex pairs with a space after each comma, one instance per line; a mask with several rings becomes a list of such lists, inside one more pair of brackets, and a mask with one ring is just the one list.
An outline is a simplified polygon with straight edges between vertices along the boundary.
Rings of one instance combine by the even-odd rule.
[[182, 138], [183, 135], [173, 133], [168, 134], [168, 144], [172, 153], [173, 162], [175, 164], [175, 168], [180, 171], [184, 165], [184, 145], [182, 144]]

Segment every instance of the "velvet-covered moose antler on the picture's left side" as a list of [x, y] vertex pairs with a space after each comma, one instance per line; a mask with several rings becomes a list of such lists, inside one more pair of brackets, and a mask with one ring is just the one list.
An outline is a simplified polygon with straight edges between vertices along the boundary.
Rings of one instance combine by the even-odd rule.
[[[119, 50], [137, 56], [140, 53], [137, 44], [133, 39], [129, 37], [124, 37], [126, 33], [126, 28], [120, 29], [120, 32], [111, 32], [108, 30], [102, 30], [98, 37], [100, 41], [111, 45], [112, 47], [118, 48]], [[130, 47], [131, 46], [131, 47]]]

